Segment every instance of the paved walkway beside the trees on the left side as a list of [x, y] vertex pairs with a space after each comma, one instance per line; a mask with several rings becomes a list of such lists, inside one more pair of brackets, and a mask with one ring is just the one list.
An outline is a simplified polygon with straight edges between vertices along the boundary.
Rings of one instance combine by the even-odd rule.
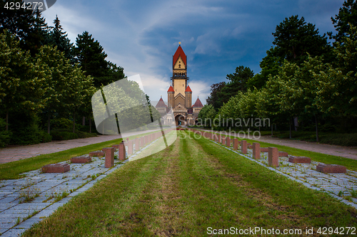
[[[140, 132], [130, 132], [127, 136], [139, 135], [141, 133], [152, 132], [156, 130], [146, 130]], [[113, 139], [121, 138], [120, 135], [100, 135], [98, 137], [87, 137], [80, 139], [71, 139], [64, 141], [52, 141], [40, 144], [31, 144], [20, 147], [8, 147], [0, 149], [0, 164], [7, 162], [14, 162], [20, 159], [36, 157], [40, 154], [51, 154], [54, 152], [61, 152], [66, 149], [74, 147], [84, 147], [89, 144], [96, 144], [100, 142], [107, 142]]]

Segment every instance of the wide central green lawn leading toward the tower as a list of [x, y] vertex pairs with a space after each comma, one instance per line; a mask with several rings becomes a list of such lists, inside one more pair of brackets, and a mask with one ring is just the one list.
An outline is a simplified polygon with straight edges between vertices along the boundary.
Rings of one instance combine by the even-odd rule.
[[357, 226], [356, 209], [328, 194], [191, 132], [179, 134], [186, 137], [126, 163], [24, 236], [208, 236], [231, 227]]

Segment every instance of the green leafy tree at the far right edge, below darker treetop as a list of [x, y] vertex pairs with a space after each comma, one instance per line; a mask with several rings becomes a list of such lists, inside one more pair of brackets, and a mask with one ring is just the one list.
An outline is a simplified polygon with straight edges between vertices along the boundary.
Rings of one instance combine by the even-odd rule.
[[336, 62], [315, 74], [318, 107], [335, 116], [357, 116], [357, 27], [350, 26], [333, 53]]

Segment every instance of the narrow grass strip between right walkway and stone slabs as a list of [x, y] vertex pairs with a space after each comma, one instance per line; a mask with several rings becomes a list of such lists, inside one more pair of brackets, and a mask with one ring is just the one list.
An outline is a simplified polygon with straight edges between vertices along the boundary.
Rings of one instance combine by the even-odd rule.
[[[207, 132], [207, 131], [205, 131], [205, 132]], [[216, 132], [210, 132], [210, 133], [216, 133]], [[298, 148], [294, 148], [294, 147], [286, 147], [283, 145], [272, 144], [272, 143], [268, 143], [268, 142], [260, 142], [260, 141], [253, 140], [253, 139], [241, 139], [239, 137], [234, 137], [231, 135], [229, 135], [228, 137], [238, 138], [239, 141], [246, 140], [248, 143], [251, 143], [251, 144], [253, 144], [253, 142], [258, 142], [261, 144], [261, 147], [276, 147], [276, 148], [278, 148], [279, 151], [288, 152], [288, 154], [291, 154], [293, 156], [310, 157], [311, 160], [313, 160], [315, 162], [322, 162], [325, 164], [340, 164], [340, 165], [347, 167], [347, 169], [357, 171], [357, 162], [355, 159], [348, 159], [346, 157], [337, 157], [337, 156], [333, 156], [331, 154], [322, 154], [322, 153], [318, 153], [318, 152], [311, 152], [311, 151], [306, 151], [304, 149], [298, 149]]]

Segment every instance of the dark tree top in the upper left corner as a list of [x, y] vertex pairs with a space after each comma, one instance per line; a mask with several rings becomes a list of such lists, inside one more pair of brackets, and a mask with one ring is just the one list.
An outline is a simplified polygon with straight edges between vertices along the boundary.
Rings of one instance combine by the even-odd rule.
[[20, 48], [25, 51], [30, 51], [34, 56], [39, 48], [44, 45], [48, 27], [45, 19], [41, 16], [39, 10], [32, 11], [31, 9], [8, 9], [5, 4], [19, 3], [24, 4], [24, 1], [9, 0], [0, 1], [0, 33], [6, 29], [20, 41]]

